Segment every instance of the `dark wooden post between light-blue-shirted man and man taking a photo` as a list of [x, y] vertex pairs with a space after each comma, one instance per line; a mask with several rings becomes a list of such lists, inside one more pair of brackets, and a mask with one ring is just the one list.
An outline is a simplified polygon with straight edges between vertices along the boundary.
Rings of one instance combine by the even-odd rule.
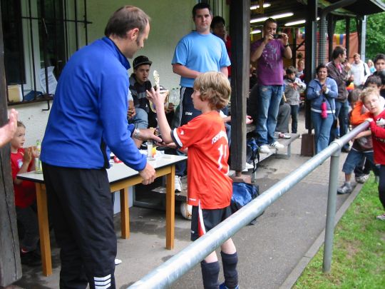
[[240, 176], [246, 162], [246, 99], [250, 81], [250, 0], [231, 1], [231, 168]]

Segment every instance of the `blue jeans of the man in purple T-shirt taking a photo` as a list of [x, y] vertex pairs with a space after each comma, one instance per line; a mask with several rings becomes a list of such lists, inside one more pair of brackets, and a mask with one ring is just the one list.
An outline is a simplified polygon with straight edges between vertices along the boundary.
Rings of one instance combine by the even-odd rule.
[[279, 103], [282, 99], [283, 86], [259, 86], [258, 106], [255, 132], [257, 145], [274, 143], [274, 131], [277, 126]]

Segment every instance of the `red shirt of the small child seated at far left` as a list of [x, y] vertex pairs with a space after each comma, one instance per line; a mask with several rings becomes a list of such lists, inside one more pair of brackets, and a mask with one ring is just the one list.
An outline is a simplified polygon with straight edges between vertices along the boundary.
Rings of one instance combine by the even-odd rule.
[[[23, 165], [24, 148], [19, 148], [17, 153], [11, 153], [12, 179], [16, 178], [21, 166]], [[34, 162], [31, 161], [28, 171]], [[15, 205], [20, 208], [27, 208], [36, 200], [35, 184], [30, 181], [23, 181], [20, 185], [14, 183]]]

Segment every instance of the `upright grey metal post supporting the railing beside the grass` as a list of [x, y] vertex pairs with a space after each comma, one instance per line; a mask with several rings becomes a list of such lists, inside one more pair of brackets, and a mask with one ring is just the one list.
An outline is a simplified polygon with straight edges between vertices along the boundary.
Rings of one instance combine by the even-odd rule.
[[[341, 147], [340, 147], [341, 148]], [[330, 158], [329, 172], [329, 193], [327, 196], [327, 222], [325, 228], [324, 243], [324, 273], [329, 272], [332, 264], [333, 236], [334, 236], [334, 216], [336, 215], [337, 186], [339, 176], [339, 155], [341, 149], [332, 154]]]

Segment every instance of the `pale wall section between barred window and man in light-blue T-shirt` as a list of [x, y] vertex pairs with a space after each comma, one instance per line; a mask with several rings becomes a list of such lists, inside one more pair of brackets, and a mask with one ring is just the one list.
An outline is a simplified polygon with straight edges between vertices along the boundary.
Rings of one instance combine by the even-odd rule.
[[[109, 16], [120, 6], [127, 5], [127, 1], [94, 0], [88, 9], [89, 41], [103, 36]], [[171, 60], [179, 39], [194, 29], [191, 10], [197, 3], [196, 0], [133, 0], [130, 5], [138, 6], [151, 18], [150, 34], [145, 46], [135, 56], [145, 55], [153, 61], [152, 70], [160, 74], [160, 84], [166, 88], [179, 85], [180, 78], [173, 73]], [[103, 14], [101, 14], [103, 11]], [[135, 57], [134, 56], [134, 57]], [[130, 71], [132, 73], [132, 70]], [[152, 73], [150, 80], [152, 79]]]

